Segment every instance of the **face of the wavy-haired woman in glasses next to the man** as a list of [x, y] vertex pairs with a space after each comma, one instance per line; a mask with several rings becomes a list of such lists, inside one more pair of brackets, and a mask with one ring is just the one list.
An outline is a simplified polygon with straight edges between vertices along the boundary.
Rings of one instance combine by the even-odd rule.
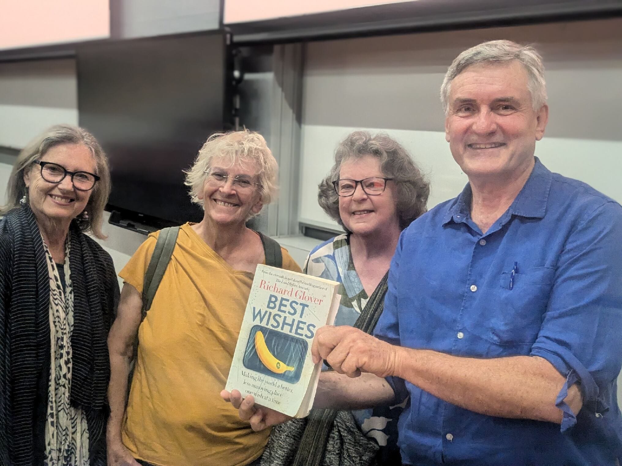
[[[374, 176], [384, 178], [386, 175], [380, 168], [379, 158], [373, 155], [351, 157], [341, 163], [340, 179], [364, 180]], [[395, 183], [387, 181], [384, 192], [378, 196], [369, 196], [358, 183], [352, 196], [339, 197], [339, 216], [353, 234], [373, 235], [391, 227], [399, 229]]]

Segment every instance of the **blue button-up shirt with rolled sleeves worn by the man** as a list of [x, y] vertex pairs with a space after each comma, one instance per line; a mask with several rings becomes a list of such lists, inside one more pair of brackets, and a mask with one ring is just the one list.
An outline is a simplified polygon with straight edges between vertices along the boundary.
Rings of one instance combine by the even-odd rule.
[[[622, 461], [616, 377], [622, 365], [622, 207], [536, 166], [482, 234], [470, 186], [404, 232], [376, 336], [466, 357], [539, 356], [566, 377], [562, 425], [485, 416], [399, 378], [405, 464], [614, 465]], [[476, 377], [476, 374], [473, 374]], [[564, 403], [578, 382], [583, 408]], [[514, 388], [523, 390], [521, 375]]]

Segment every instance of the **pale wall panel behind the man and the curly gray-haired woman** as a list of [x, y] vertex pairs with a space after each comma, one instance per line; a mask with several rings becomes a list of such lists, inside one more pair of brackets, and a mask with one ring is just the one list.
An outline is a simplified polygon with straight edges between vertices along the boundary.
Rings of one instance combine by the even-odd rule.
[[[622, 19], [309, 43], [302, 192], [317, 190], [340, 139], [369, 129], [396, 137], [429, 173], [430, 208], [457, 195], [466, 176], [445, 142], [439, 87], [458, 53], [491, 39], [535, 43], [544, 56], [550, 119], [536, 155], [622, 202]], [[335, 225], [308, 194], [300, 219]]]

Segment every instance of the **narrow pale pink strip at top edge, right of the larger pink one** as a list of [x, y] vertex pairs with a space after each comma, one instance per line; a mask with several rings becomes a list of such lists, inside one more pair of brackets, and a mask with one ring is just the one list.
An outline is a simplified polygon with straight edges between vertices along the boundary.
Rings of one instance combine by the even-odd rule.
[[225, 0], [223, 22], [262, 21], [287, 16], [346, 10], [416, 0]]

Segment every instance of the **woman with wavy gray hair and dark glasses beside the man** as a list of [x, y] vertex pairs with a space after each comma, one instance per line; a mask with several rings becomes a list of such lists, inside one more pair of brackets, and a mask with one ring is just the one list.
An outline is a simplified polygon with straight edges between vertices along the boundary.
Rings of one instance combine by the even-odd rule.
[[[399, 235], [427, 210], [429, 193], [409, 153], [388, 135], [356, 131], [338, 145], [335, 165], [319, 185], [318, 202], [345, 234], [313, 249], [304, 267], [309, 275], [341, 283], [336, 326], [373, 331]], [[231, 399], [226, 392], [223, 396]], [[239, 393], [236, 398], [234, 406]], [[308, 419], [274, 427], [261, 465], [401, 464], [401, 408], [339, 411], [334, 418], [313, 410]]]

